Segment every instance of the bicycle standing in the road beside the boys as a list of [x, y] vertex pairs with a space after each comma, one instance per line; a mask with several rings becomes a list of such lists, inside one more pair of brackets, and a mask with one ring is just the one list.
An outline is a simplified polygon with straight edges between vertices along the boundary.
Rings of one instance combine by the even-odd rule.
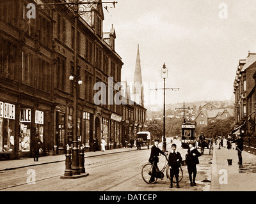
[[[164, 166], [161, 170], [157, 169], [156, 166], [154, 166], [154, 162], [153, 163], [147, 162], [147, 163], [142, 165], [141, 176], [142, 176], [142, 179], [147, 184], [154, 184], [154, 183], [156, 183], [157, 179], [163, 180], [164, 170], [166, 171], [165, 173], [166, 173], [167, 179], [171, 179], [170, 178], [170, 166], [168, 164], [168, 158], [166, 157], [166, 155], [164, 155], [164, 157], [165, 157], [165, 163], [164, 163]], [[156, 172], [157, 177], [155, 177], [154, 182], [150, 182], [149, 180], [150, 180], [150, 177], [152, 175], [153, 168], [155, 168], [155, 172]], [[183, 171], [182, 171], [181, 166], [180, 166], [179, 170], [180, 170], [180, 172], [179, 172], [179, 182], [180, 182], [180, 180], [182, 180], [182, 178], [183, 178]], [[173, 183], [176, 183], [176, 181], [173, 180]]]

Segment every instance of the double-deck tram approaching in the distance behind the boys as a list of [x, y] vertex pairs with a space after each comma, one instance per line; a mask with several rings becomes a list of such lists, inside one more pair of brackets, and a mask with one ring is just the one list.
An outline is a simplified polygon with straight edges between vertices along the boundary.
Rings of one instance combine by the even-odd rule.
[[196, 142], [196, 122], [187, 121], [181, 126], [181, 147], [188, 148], [189, 142]]

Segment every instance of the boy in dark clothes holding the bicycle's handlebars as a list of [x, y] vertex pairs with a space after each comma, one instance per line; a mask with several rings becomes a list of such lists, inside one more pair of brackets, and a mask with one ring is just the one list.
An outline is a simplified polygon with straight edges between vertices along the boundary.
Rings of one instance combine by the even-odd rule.
[[151, 153], [150, 153], [150, 157], [148, 159], [148, 161], [150, 163], [152, 163], [155, 167], [155, 168], [153, 168], [152, 175], [151, 175], [149, 182], [155, 181], [156, 172], [159, 171], [159, 168], [157, 166], [157, 163], [159, 161], [159, 159], [158, 159], [159, 153], [164, 155], [164, 152], [161, 149], [159, 149], [158, 143], [159, 143], [159, 140], [155, 140], [154, 145], [151, 147]]

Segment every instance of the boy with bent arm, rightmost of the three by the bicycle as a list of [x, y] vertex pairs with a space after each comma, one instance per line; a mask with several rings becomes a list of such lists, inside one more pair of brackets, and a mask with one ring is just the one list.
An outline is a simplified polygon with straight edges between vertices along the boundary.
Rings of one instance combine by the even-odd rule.
[[[199, 164], [198, 157], [202, 154], [195, 149], [194, 143], [189, 143], [188, 154], [186, 154], [186, 163], [188, 164], [188, 174], [190, 180], [190, 186], [196, 186], [196, 164]], [[193, 180], [192, 180], [193, 173]]]

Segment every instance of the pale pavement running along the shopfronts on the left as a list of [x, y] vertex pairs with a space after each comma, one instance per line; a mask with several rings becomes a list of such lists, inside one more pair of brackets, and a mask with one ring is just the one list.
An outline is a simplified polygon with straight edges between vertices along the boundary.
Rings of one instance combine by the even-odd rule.
[[[141, 147], [141, 150], [147, 149], [147, 147]], [[95, 157], [100, 156], [104, 154], [115, 154], [120, 152], [130, 152], [130, 151], [138, 151], [136, 147], [132, 148], [120, 148], [120, 149], [111, 149], [111, 150], [105, 150], [102, 151], [96, 151], [96, 152], [84, 152], [84, 158], [86, 157]], [[56, 155], [56, 156], [44, 156], [39, 157], [39, 161], [34, 161], [33, 158], [30, 157], [22, 157], [20, 159], [15, 160], [7, 160], [7, 161], [0, 161], [0, 171], [3, 170], [13, 170], [17, 168], [23, 168], [27, 166], [36, 166], [36, 165], [42, 165], [42, 164], [48, 164], [48, 163], [57, 163], [60, 161], [65, 161], [66, 156], [65, 154]]]

